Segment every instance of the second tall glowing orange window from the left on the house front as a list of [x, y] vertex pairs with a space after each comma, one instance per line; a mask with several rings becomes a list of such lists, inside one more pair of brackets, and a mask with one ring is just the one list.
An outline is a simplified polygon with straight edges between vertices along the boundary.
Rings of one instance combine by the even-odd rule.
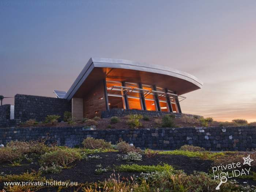
[[[127, 93], [129, 109], [142, 110], [140, 90], [137, 83], [125, 83], [125, 87], [131, 88]], [[137, 89], [137, 90], [136, 90]]]

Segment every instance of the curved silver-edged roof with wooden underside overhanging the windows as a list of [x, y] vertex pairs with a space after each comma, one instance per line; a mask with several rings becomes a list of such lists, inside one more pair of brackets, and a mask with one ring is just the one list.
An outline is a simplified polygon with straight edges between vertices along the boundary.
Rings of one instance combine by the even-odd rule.
[[72, 97], [83, 97], [84, 93], [105, 78], [155, 84], [176, 91], [179, 95], [203, 86], [203, 83], [195, 76], [161, 65], [143, 64], [123, 59], [90, 58], [64, 98], [70, 100]]

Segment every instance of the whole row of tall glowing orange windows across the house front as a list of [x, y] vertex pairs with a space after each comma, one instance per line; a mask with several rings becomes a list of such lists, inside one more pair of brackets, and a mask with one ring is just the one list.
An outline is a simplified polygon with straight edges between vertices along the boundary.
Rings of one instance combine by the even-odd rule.
[[[170, 102], [172, 112], [179, 112], [176, 99], [172, 95], [166, 94], [165, 89], [161, 87], [156, 87], [156, 90], [154, 90], [151, 85], [142, 84], [139, 86], [138, 83], [122, 83], [106, 80], [106, 89], [109, 109], [126, 109], [125, 101], [127, 101], [127, 107], [129, 109], [142, 110], [146, 108], [144, 110], [157, 111], [157, 102], [159, 102], [161, 111], [170, 112], [168, 105], [168, 102]], [[167, 93], [174, 94], [170, 90]], [[144, 97], [142, 97], [143, 95]], [[170, 100], [167, 97], [170, 97]]]

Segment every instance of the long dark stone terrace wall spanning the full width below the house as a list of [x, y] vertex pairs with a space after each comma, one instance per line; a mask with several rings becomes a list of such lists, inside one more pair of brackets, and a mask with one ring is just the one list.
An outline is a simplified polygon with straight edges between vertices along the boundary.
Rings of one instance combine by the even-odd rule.
[[118, 140], [140, 148], [174, 150], [184, 144], [207, 150], [256, 150], [256, 127], [190, 127], [152, 129], [90, 130], [86, 127], [0, 128], [0, 144], [11, 140], [57, 142], [61, 146], [80, 146], [83, 139], [93, 137], [115, 144]]

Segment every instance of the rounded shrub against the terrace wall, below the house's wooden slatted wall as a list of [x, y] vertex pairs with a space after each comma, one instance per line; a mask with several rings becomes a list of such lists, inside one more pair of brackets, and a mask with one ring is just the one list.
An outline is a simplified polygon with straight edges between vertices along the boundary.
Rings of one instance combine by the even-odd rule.
[[86, 138], [82, 142], [85, 148], [95, 149], [95, 148], [112, 148], [111, 142], [106, 142], [104, 139], [94, 139], [94, 138]]

